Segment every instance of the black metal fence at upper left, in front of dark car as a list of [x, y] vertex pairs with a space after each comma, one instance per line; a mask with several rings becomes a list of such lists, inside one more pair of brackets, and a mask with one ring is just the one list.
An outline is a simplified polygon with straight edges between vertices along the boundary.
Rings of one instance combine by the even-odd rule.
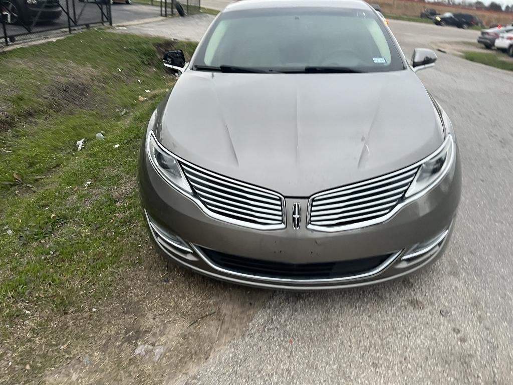
[[6, 45], [32, 33], [112, 25], [109, 0], [0, 0], [0, 16]]

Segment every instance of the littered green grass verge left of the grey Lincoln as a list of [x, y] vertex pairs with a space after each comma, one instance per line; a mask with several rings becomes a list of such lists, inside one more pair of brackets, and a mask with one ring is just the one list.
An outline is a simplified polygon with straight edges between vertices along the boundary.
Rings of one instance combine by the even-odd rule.
[[[161, 54], [190, 57], [195, 45], [89, 30], [0, 54], [0, 341], [24, 341], [16, 360], [33, 355], [27, 335], [49, 338], [54, 317], [108, 296], [116, 272], [137, 263], [148, 242], [139, 148], [175, 82]], [[7, 352], [2, 343], [2, 370]]]

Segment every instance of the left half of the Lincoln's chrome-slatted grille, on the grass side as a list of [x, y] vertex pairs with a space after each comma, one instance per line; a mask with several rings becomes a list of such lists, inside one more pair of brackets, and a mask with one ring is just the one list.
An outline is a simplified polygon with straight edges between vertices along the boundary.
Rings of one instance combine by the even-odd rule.
[[211, 217], [254, 228], [285, 227], [284, 199], [279, 194], [189, 163], [181, 162], [181, 165]]

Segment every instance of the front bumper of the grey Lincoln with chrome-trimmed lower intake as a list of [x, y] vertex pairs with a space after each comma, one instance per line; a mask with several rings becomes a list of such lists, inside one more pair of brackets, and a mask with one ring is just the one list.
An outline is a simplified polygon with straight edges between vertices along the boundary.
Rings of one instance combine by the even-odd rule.
[[[139, 178], [151, 237], [173, 262], [233, 283], [318, 290], [383, 282], [417, 271], [440, 257], [450, 238], [460, 200], [460, 172], [457, 154], [437, 186], [406, 204], [392, 218], [336, 233], [305, 228], [306, 213], [302, 214], [302, 225], [297, 230], [291, 225], [279, 230], [255, 230], [208, 217], [156, 174], [144, 152]], [[292, 223], [293, 203], [299, 201], [306, 207], [308, 199], [285, 201], [287, 223]], [[184, 240], [185, 248], [177, 247], [170, 239], [174, 236]], [[234, 267], [237, 259], [245, 261], [247, 268]], [[376, 264], [369, 265], [368, 261]], [[338, 276], [320, 276], [312, 271], [311, 277], [304, 268], [340, 264], [367, 267], [362, 271], [350, 269], [351, 273]], [[293, 271], [291, 276], [280, 273], [284, 266]], [[298, 274], [299, 271], [302, 273]]]

